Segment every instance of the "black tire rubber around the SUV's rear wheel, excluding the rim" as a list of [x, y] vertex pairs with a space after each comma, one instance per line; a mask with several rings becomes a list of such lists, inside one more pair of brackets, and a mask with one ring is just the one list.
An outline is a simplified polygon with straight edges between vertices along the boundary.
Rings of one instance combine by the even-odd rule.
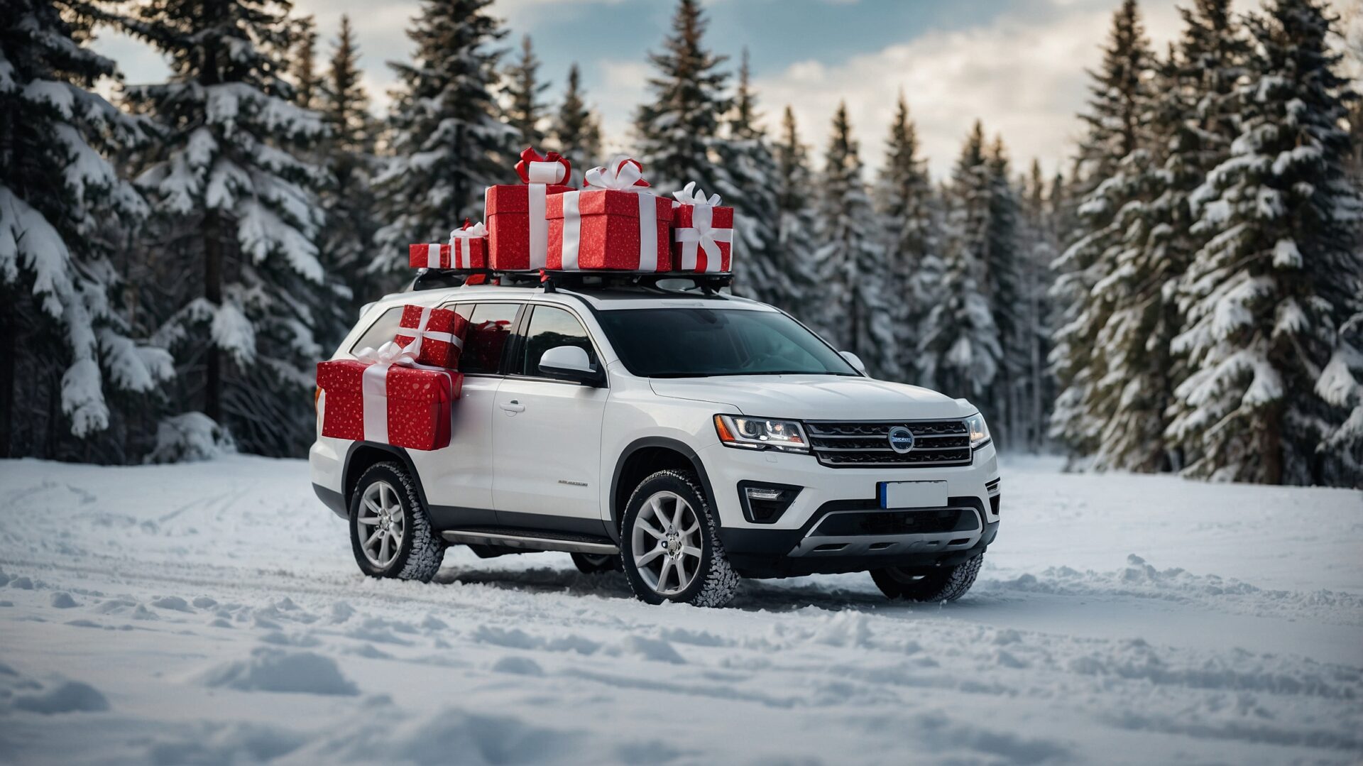
[[[398, 545], [393, 560], [383, 567], [365, 556], [361, 548], [358, 523], [364, 493], [378, 482], [386, 482], [394, 489], [398, 504], [402, 507], [403, 523], [402, 544]], [[399, 463], [375, 463], [360, 476], [354, 493], [350, 495], [350, 551], [354, 553], [356, 563], [360, 564], [360, 571], [378, 578], [431, 582], [435, 572], [440, 571], [446, 547], [446, 541], [431, 530], [431, 517], [427, 515], [425, 507], [421, 504], [416, 484]]]

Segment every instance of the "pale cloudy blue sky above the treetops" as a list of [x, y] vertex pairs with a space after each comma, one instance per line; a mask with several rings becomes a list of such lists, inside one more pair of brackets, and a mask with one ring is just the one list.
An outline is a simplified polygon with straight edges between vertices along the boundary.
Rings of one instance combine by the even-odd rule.
[[[1184, 0], [1189, 1], [1189, 0]], [[1254, 0], [1239, 0], [1247, 8]], [[1359, 0], [1344, 0], [1356, 4]], [[349, 14], [361, 46], [376, 109], [393, 86], [387, 60], [412, 49], [403, 29], [418, 0], [296, 0], [313, 14], [322, 55], [330, 50], [341, 14]], [[1097, 64], [1119, 0], [706, 0], [709, 45], [752, 57], [761, 108], [776, 127], [795, 109], [806, 143], [821, 155], [827, 125], [846, 99], [863, 159], [878, 166], [902, 90], [919, 124], [935, 176], [950, 169], [961, 140], [979, 117], [1002, 132], [1021, 168], [1040, 158], [1047, 173], [1071, 153], [1074, 114], [1086, 95], [1085, 67]], [[1163, 48], [1178, 34], [1176, 0], [1145, 0], [1150, 38]], [[529, 34], [541, 74], [557, 98], [568, 64], [582, 67], [589, 99], [600, 109], [608, 140], [627, 146], [634, 105], [646, 97], [647, 53], [657, 50], [675, 4], [668, 0], [497, 0], [507, 48]], [[128, 82], [165, 74], [158, 56], [135, 41], [105, 35]]]

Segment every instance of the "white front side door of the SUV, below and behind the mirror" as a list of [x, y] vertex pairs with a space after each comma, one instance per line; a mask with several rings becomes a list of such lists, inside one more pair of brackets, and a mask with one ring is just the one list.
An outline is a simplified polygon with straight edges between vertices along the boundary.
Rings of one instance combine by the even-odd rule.
[[503, 525], [604, 534], [597, 485], [607, 387], [538, 373], [555, 346], [579, 346], [600, 365], [578, 316], [557, 305], [527, 305], [510, 373], [496, 395], [492, 500]]

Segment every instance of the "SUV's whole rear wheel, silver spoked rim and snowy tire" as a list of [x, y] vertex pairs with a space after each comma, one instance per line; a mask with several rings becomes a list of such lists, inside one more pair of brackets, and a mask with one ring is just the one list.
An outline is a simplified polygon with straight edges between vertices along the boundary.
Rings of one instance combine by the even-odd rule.
[[395, 462], [369, 466], [350, 496], [350, 548], [369, 577], [431, 582], [444, 540], [431, 532], [416, 485]]

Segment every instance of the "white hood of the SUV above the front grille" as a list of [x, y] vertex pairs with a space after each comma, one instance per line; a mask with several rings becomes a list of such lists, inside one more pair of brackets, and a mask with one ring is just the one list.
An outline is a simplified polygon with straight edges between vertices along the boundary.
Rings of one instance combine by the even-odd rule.
[[795, 420], [930, 420], [975, 414], [964, 399], [928, 388], [836, 375], [656, 378], [660, 397], [711, 402], [740, 414]]

